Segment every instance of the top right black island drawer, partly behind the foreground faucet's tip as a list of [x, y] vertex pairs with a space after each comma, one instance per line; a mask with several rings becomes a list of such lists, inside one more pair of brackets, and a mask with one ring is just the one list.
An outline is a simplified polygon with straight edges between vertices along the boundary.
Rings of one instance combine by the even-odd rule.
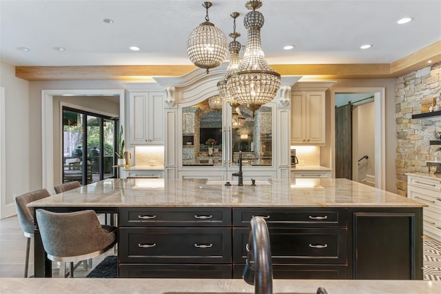
[[254, 216], [265, 218], [271, 227], [346, 226], [345, 208], [233, 208], [234, 226], [247, 226]]

